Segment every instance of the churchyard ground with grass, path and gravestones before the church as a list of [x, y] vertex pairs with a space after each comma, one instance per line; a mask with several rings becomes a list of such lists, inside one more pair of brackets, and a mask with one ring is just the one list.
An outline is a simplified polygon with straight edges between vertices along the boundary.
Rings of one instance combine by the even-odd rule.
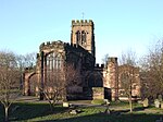
[[[143, 102], [143, 103], [142, 103]], [[10, 108], [9, 120], [13, 122], [162, 122], [163, 109], [148, 101], [134, 102], [133, 113], [128, 102], [91, 103], [91, 100], [68, 101], [68, 106], [54, 106], [50, 110], [47, 101], [17, 101]], [[156, 105], [158, 106], [158, 105]], [[0, 106], [0, 121], [4, 114]]]

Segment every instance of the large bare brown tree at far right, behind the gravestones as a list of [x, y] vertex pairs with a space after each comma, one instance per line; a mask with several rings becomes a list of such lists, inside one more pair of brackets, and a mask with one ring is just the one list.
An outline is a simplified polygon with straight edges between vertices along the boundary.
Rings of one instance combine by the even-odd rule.
[[145, 56], [142, 63], [143, 96], [154, 99], [163, 95], [163, 40], [159, 40]]

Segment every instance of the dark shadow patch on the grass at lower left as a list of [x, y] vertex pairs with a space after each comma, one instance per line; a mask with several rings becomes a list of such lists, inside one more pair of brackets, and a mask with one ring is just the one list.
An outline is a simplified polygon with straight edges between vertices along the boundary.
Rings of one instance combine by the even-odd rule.
[[[41, 109], [40, 109], [41, 108]], [[26, 121], [34, 118], [41, 118], [49, 114], [62, 113], [66, 111], [65, 108], [54, 107], [54, 112], [50, 110], [49, 103], [29, 103], [17, 102], [13, 103], [9, 110], [10, 121]], [[0, 105], [0, 122], [4, 120], [4, 110]]]

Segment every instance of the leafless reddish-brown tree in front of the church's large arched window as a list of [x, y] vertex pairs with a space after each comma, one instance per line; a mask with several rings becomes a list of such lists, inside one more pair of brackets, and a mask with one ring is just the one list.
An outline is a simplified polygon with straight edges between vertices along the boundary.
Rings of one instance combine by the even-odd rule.
[[49, 70], [43, 95], [48, 99], [51, 110], [60, 99], [66, 100], [68, 87], [78, 84], [79, 71], [73, 64], [63, 64], [61, 69]]

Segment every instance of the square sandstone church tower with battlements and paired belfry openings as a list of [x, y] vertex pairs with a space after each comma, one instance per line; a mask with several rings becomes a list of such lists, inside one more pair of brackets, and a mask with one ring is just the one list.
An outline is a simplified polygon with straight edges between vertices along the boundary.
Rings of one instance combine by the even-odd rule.
[[83, 47], [96, 57], [93, 22], [91, 20], [72, 21], [71, 44]]

